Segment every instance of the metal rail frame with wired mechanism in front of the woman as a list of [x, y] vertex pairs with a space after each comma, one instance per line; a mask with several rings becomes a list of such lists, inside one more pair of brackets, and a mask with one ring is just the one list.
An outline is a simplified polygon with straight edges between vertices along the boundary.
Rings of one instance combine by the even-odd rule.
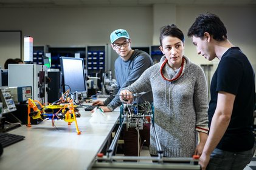
[[[133, 94], [136, 97], [139, 97], [140, 94]], [[154, 128], [154, 107], [151, 105], [150, 110], [146, 110], [143, 113], [139, 111], [139, 104], [136, 103], [135, 108], [134, 105], [126, 103], [126, 105], [122, 105], [120, 107], [120, 126], [117, 129], [116, 136], [112, 140], [109, 149], [107, 150], [106, 155], [98, 154], [96, 157], [96, 161], [92, 166], [92, 169], [201, 169], [198, 165], [198, 158], [168, 158], [164, 157], [164, 151], [162, 150], [161, 144], [159, 142], [159, 138], [156, 133], [156, 129]], [[145, 103], [147, 106], [147, 103]], [[128, 111], [126, 111], [126, 109]], [[150, 117], [151, 130], [153, 131], [154, 138], [156, 139], [156, 149], [157, 149], [157, 157], [140, 157], [140, 156], [116, 156], [114, 155], [114, 151], [116, 151], [117, 141], [120, 136], [120, 132], [123, 128], [123, 124], [126, 123], [126, 127], [134, 127], [139, 132], [141, 128], [140, 120], [142, 122], [146, 122], [147, 118]], [[135, 121], [135, 122], [134, 122]], [[135, 123], [135, 124], [134, 124]], [[143, 125], [142, 125], [143, 128]], [[138, 155], [140, 152], [140, 142], [139, 142], [139, 134], [138, 134]], [[137, 162], [122, 162], [123, 160], [128, 161], [137, 161]], [[140, 162], [140, 160], [151, 160], [153, 163], [145, 163]]]

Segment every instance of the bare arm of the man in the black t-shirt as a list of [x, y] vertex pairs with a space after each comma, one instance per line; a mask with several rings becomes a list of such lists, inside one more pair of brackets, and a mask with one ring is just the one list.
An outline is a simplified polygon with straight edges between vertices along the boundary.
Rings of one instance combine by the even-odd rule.
[[227, 126], [229, 126], [234, 101], [234, 94], [219, 91], [216, 110], [210, 126], [209, 137], [199, 159], [199, 164], [203, 170], [206, 169], [206, 166], [209, 163], [210, 154], [216, 148], [221, 138], [224, 136]]

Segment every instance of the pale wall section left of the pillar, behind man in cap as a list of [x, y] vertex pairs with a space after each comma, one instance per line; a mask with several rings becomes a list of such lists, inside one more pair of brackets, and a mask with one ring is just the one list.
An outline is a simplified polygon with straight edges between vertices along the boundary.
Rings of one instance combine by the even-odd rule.
[[[22, 36], [33, 36], [35, 46], [85, 47], [109, 44], [110, 33], [125, 28], [133, 46], [149, 46], [151, 11], [152, 7], [0, 8], [0, 16], [5, 16], [0, 17], [0, 30], [22, 30]], [[111, 54], [111, 60], [116, 59], [116, 53]]]

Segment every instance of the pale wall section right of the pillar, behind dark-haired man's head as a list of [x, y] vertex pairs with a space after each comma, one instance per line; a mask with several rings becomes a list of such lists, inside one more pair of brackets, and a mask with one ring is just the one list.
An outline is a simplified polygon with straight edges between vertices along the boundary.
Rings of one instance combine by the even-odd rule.
[[196, 54], [196, 48], [187, 31], [200, 13], [210, 11], [220, 16], [227, 28], [227, 37], [247, 55], [252, 64], [256, 64], [256, 7], [177, 7], [177, 25], [185, 34], [185, 54], [197, 64], [209, 64], [204, 57]]

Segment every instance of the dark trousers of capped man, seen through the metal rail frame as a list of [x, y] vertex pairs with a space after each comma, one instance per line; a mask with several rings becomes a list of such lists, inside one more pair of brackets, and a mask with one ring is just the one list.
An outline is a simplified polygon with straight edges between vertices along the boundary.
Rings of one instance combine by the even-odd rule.
[[[140, 147], [143, 145], [144, 140], [146, 144], [150, 146], [150, 123], [144, 124], [143, 129], [139, 130], [140, 135]], [[124, 155], [126, 156], [137, 156], [138, 155], [138, 140], [137, 140], [137, 130], [136, 128], [128, 128], [126, 131], [126, 126], [123, 126], [123, 140], [124, 144]]]

